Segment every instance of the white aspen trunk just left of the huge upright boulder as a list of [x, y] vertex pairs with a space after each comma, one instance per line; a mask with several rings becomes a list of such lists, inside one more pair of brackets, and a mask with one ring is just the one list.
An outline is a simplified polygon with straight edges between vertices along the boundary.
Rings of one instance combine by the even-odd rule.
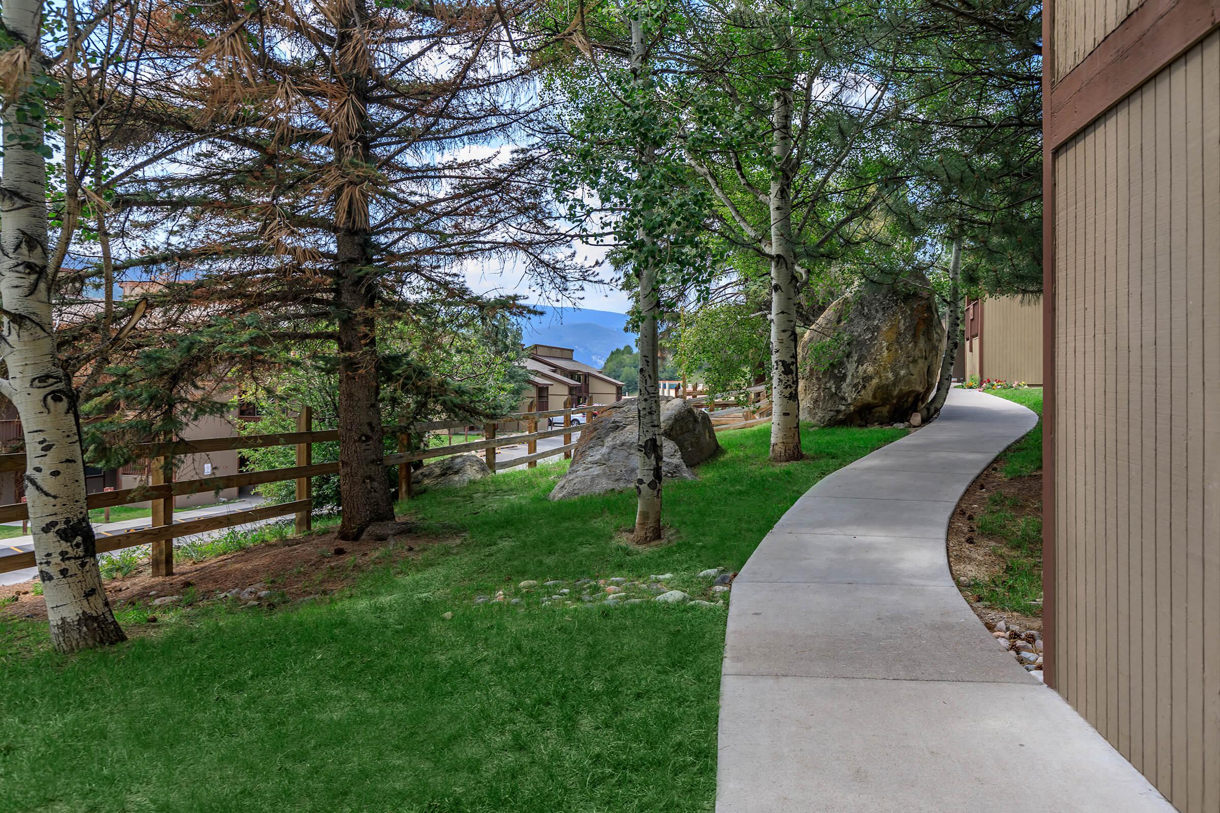
[[800, 377], [797, 369], [797, 261], [792, 245], [792, 83], [771, 111], [771, 460], [798, 461]]

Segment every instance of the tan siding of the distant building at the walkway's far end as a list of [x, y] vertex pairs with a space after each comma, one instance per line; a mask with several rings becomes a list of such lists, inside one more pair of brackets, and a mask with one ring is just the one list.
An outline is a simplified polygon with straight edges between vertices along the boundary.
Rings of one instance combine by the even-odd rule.
[[1041, 385], [1042, 297], [998, 296], [982, 306], [982, 375]]

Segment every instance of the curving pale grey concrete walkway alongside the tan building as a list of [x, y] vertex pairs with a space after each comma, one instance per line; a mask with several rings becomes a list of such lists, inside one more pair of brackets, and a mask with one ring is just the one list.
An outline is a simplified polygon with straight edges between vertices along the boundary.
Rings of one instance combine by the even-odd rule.
[[938, 421], [821, 480], [762, 540], [733, 583], [717, 813], [1174, 809], [949, 575], [954, 506], [1036, 421], [954, 390]]

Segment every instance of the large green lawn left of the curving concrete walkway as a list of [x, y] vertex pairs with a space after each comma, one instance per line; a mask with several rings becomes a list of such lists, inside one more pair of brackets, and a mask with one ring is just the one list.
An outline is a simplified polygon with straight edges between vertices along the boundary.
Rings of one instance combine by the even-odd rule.
[[[699, 570], [741, 568], [814, 483], [905, 433], [808, 431], [784, 466], [769, 434], [722, 433], [698, 481], [666, 484], [671, 542], [647, 551], [620, 536], [634, 495], [548, 501], [558, 462], [401, 506], [462, 542], [328, 601], [157, 608], [155, 635], [124, 609], [132, 641], [74, 657], [0, 623], [0, 811], [711, 811], [725, 608], [516, 585], [672, 573], [710, 597]], [[526, 602], [473, 603], [495, 590]]]

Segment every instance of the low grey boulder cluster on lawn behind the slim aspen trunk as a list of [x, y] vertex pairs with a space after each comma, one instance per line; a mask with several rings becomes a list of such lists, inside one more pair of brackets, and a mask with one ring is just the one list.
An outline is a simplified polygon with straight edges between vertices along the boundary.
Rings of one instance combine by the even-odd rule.
[[[636, 460], [638, 416], [636, 399], [623, 399], [601, 410], [581, 431], [572, 464], [550, 492], [550, 499], [634, 488], [639, 473]], [[661, 474], [667, 480], [693, 480], [691, 467], [720, 450], [711, 418], [682, 399], [661, 399]]]

